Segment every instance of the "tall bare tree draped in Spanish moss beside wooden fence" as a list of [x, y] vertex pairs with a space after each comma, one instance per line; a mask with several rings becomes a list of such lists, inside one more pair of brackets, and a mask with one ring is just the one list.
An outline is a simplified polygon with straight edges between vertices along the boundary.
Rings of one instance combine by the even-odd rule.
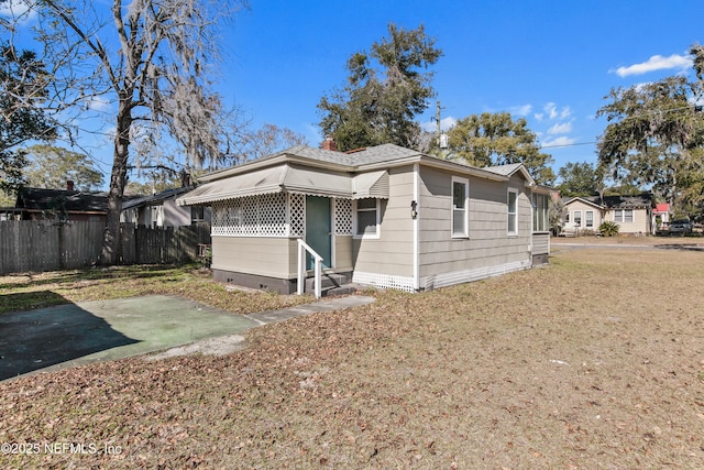
[[[15, 0], [16, 1], [16, 0]], [[219, 26], [246, 0], [24, 0], [51, 61], [54, 107], [85, 109], [94, 99], [114, 107], [114, 151], [102, 264], [118, 261], [120, 211], [131, 160], [177, 143], [187, 162], [221, 157], [228, 132], [211, 77], [220, 61]], [[133, 155], [132, 155], [133, 156]]]

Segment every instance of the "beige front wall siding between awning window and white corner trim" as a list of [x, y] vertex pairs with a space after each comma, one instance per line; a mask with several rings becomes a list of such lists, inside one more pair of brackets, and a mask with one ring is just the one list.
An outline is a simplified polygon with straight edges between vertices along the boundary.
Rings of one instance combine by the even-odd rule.
[[414, 274], [413, 166], [391, 168], [388, 176], [389, 194], [388, 200], [381, 204], [378, 238], [352, 238], [351, 264], [355, 273], [365, 273], [365, 278], [377, 274], [403, 277]]

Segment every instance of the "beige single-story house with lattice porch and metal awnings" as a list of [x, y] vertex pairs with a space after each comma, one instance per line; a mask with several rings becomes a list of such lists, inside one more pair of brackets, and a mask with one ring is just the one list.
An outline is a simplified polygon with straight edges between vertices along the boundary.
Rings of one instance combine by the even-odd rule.
[[[295, 146], [201, 177], [180, 196], [212, 208], [213, 277], [302, 291], [326, 274], [408, 292], [547, 263], [549, 189], [521, 164], [476, 168], [397, 145]], [[302, 247], [302, 249], [301, 249]]]

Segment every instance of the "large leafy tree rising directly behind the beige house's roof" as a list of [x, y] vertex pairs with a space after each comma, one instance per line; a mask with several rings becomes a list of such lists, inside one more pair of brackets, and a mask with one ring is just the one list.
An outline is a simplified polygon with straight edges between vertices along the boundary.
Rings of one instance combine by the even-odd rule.
[[416, 147], [422, 113], [436, 92], [432, 73], [424, 72], [442, 55], [436, 40], [420, 25], [404, 30], [388, 24], [388, 37], [371, 52], [353, 54], [342, 89], [323, 96], [318, 103], [323, 135], [332, 136], [341, 151], [394, 143]]

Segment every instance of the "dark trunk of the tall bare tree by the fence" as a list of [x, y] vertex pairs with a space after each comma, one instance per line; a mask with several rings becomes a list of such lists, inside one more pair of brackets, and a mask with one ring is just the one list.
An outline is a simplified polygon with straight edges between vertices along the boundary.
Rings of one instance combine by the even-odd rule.
[[132, 110], [130, 106], [120, 101], [118, 110], [118, 125], [114, 136], [114, 159], [110, 175], [110, 192], [108, 193], [108, 217], [106, 231], [100, 250], [100, 264], [117, 264], [120, 252], [120, 212], [122, 212], [122, 196], [128, 173], [130, 156], [130, 128], [132, 125]]

